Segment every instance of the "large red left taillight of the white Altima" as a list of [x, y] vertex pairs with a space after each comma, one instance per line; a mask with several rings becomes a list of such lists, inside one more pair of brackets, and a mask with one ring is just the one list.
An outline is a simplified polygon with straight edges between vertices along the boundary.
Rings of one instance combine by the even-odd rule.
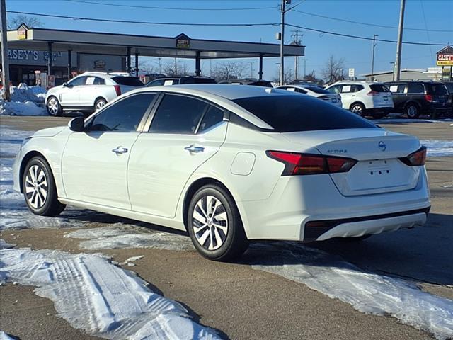
[[333, 174], [349, 171], [357, 163], [355, 159], [328, 157], [320, 154], [266, 151], [268, 157], [285, 164], [282, 176]]

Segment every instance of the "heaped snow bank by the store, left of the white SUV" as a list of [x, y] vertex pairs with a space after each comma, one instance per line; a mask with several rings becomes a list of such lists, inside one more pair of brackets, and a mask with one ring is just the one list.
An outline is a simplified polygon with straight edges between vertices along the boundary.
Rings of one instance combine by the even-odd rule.
[[[3, 95], [4, 89], [0, 89], [0, 98]], [[44, 99], [45, 89], [40, 86], [11, 86], [11, 101], [0, 100], [0, 115], [47, 115]]]

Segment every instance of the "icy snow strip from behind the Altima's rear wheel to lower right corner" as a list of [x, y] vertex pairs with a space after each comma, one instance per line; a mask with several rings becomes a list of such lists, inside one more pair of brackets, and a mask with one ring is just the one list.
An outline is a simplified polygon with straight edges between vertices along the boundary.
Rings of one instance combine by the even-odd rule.
[[360, 312], [396, 317], [403, 324], [453, 336], [453, 301], [421, 291], [406, 280], [362, 271], [324, 251], [300, 244], [258, 245], [268, 253], [252, 266], [304, 283], [320, 293], [347, 302]]

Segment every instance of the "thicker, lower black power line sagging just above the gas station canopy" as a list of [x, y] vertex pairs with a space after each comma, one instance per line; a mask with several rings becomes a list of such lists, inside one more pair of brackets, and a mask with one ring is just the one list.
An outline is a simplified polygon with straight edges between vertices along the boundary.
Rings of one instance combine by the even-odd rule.
[[173, 26], [278, 26], [280, 23], [163, 23], [158, 21], [132, 21], [119, 19], [86, 18], [81, 16], [59, 16], [57, 14], [30, 13], [6, 11], [6, 13], [25, 14], [26, 16], [45, 16], [48, 18], [72, 19], [81, 21], [103, 21], [106, 23], [139, 23], [145, 25], [173, 25]]

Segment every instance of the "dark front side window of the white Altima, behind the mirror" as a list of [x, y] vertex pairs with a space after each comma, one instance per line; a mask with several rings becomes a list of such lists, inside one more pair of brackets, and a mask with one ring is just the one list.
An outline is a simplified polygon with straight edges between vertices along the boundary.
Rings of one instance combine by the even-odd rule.
[[147, 112], [155, 94], [135, 94], [108, 106], [90, 123], [89, 131], [134, 132]]

